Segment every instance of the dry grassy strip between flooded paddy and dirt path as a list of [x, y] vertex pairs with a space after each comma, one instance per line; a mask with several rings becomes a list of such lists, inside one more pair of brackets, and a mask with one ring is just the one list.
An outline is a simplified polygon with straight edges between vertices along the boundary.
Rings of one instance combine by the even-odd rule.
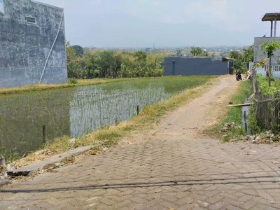
[[50, 156], [57, 155], [58, 153], [64, 153], [69, 151], [72, 146], [74, 148], [78, 146], [94, 145], [92, 153], [98, 153], [102, 151], [105, 147], [110, 147], [118, 144], [118, 141], [125, 139], [126, 137], [132, 137], [133, 134], [141, 132], [143, 130], [150, 130], [156, 123], [159, 122], [160, 118], [164, 116], [167, 112], [172, 111], [190, 99], [200, 97], [204, 92], [207, 92], [213, 83], [217, 82], [217, 78], [210, 77], [214, 79], [209, 79], [208, 82], [204, 83], [199, 87], [193, 89], [187, 89], [185, 92], [176, 94], [171, 99], [167, 99], [158, 104], [153, 104], [151, 106], [146, 106], [139, 116], [134, 116], [130, 120], [123, 121], [116, 126], [103, 127], [101, 130], [94, 131], [90, 134], [80, 137], [75, 143], [69, 141], [69, 137], [63, 137], [50, 141], [45, 144], [43, 148], [46, 153], [31, 153], [26, 158], [22, 158], [15, 162], [16, 167], [21, 167], [27, 165], [31, 162], [38, 160], [43, 160], [49, 158]]

